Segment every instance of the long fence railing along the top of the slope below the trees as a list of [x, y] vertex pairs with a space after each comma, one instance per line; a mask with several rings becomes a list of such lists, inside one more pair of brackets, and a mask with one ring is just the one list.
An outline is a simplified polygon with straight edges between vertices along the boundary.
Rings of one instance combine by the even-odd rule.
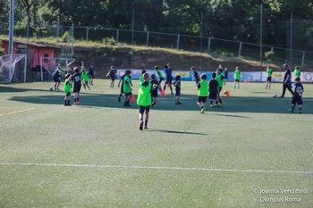
[[[200, 37], [183, 34], [162, 33], [154, 31], [140, 31], [131, 29], [102, 29], [93, 27], [74, 27], [62, 25], [31, 26], [27, 34], [26, 26], [14, 29], [16, 37], [55, 38], [57, 42], [69, 41], [67, 36], [74, 40], [126, 43], [137, 46], [156, 46], [186, 50], [207, 54], [224, 55], [228, 57], [243, 57], [252, 61], [258, 61], [262, 65], [267, 63], [282, 64], [283, 62], [313, 67], [313, 52], [292, 50], [279, 46], [267, 46], [217, 37]], [[0, 34], [7, 36], [8, 24], [0, 23]], [[262, 51], [262, 54], [261, 54]], [[266, 55], [267, 54], [267, 55]], [[270, 54], [270, 55], [268, 55]], [[262, 62], [260, 61], [262, 60]]]

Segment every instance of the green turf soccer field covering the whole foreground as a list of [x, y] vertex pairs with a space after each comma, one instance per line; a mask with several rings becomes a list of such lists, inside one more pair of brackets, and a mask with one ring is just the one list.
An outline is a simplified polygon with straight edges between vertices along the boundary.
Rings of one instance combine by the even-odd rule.
[[302, 114], [272, 97], [281, 83], [227, 83], [200, 114], [182, 81], [182, 105], [166, 89], [142, 131], [109, 80], [71, 107], [51, 85], [0, 85], [0, 207], [313, 206], [313, 85]]

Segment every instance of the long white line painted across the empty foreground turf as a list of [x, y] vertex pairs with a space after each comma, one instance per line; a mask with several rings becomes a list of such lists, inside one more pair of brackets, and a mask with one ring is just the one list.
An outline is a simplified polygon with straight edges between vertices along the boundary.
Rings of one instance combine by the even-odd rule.
[[56, 163], [18, 163], [0, 162], [0, 165], [40, 166], [40, 167], [75, 167], [75, 168], [100, 168], [100, 169], [152, 169], [167, 171], [225, 171], [225, 172], [262, 172], [283, 174], [313, 174], [313, 171], [266, 171], [266, 170], [241, 170], [241, 169], [217, 169], [217, 168], [183, 168], [183, 167], [159, 167], [159, 166], [127, 166], [127, 165], [99, 165], [99, 164], [56, 164]]

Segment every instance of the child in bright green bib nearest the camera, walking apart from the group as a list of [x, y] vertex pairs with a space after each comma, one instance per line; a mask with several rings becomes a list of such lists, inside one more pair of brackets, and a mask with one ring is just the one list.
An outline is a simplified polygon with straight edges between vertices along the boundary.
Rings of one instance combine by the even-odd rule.
[[[140, 82], [140, 88], [138, 90], [137, 105], [140, 106], [140, 130], [148, 129], [148, 114], [151, 105], [151, 89], [152, 85], [149, 82], [149, 74], [143, 74], [143, 82]], [[143, 114], [145, 113], [146, 118], [144, 122]]]

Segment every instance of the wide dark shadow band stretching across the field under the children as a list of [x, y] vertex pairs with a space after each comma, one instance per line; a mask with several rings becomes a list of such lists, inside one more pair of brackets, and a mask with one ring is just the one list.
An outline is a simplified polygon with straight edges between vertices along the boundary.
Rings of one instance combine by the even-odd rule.
[[[11, 88], [11, 87], [8, 87]], [[16, 88], [15, 88], [16, 89]], [[10, 90], [13, 90], [11, 88]], [[19, 90], [19, 89], [18, 89]], [[12, 96], [9, 98], [13, 101], [30, 103], [30, 104], [62, 104], [63, 105], [63, 92], [55, 92], [48, 90], [33, 90], [24, 89], [25, 91], [46, 91], [46, 96], [33, 96], [32, 93], [25, 92], [25, 96]], [[13, 90], [14, 91], [14, 90]], [[16, 92], [16, 90], [14, 91]], [[23, 91], [21, 91], [23, 92]], [[30, 96], [28, 96], [30, 95]], [[136, 96], [136, 95], [135, 95]], [[80, 93], [80, 107], [88, 108], [123, 108], [123, 109], [138, 109], [136, 102], [131, 103], [131, 107], [123, 106], [122, 102], [117, 102], [118, 95], [112, 94], [96, 94], [90, 92]], [[136, 96], [137, 97], [137, 96]], [[182, 104], [173, 104], [175, 96], [159, 96], [157, 98], [157, 107], [151, 108], [151, 111], [200, 111], [197, 104], [197, 95], [182, 95]], [[73, 99], [72, 99], [73, 101]], [[233, 115], [230, 113], [239, 112], [254, 112], [254, 113], [288, 113], [288, 109], [291, 108], [291, 98], [274, 99], [272, 97], [259, 97], [259, 96], [231, 96], [223, 97], [223, 106], [220, 108], [208, 108], [207, 112], [214, 113], [219, 116], [229, 116], [237, 118], [249, 118], [245, 115]], [[308, 102], [306, 102], [308, 101]], [[303, 112], [304, 114], [312, 114], [313, 107], [310, 102], [310, 98], [304, 99]], [[207, 101], [207, 105], [209, 102]], [[296, 110], [298, 106], [296, 106]]]

